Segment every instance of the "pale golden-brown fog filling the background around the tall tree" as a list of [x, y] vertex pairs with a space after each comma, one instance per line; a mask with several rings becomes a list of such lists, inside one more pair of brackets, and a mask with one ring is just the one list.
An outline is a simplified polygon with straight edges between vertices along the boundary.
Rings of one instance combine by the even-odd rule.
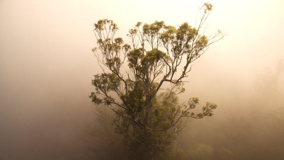
[[[194, 62], [180, 99], [197, 96], [218, 108], [213, 117], [190, 121], [178, 146], [226, 147], [251, 159], [267, 144], [279, 150], [271, 155], [283, 154], [284, 1], [209, 2], [205, 33], [228, 35]], [[93, 23], [113, 20], [116, 37], [127, 42], [138, 21], [194, 26], [203, 3], [1, 0], [0, 159], [96, 159], [86, 142], [87, 126], [97, 122], [90, 82], [101, 73], [91, 51]], [[232, 147], [232, 140], [253, 145]]]

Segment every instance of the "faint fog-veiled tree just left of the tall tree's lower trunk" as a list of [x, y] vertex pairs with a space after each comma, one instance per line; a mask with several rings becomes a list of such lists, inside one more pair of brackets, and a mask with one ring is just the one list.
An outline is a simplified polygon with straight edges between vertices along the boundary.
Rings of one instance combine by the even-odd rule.
[[[112, 125], [115, 114], [103, 105], [95, 110], [95, 121], [87, 127], [87, 145], [91, 151], [88, 158], [122, 159], [125, 145], [120, 143], [121, 135], [117, 135]], [[87, 159], [87, 158], [85, 158]]]

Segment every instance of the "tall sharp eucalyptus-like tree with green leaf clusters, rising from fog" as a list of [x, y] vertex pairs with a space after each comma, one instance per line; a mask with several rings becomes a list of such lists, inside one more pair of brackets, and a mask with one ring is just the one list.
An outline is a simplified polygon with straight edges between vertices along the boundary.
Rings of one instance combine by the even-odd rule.
[[[204, 3], [201, 9], [197, 27], [138, 22], [127, 34], [130, 45], [115, 38], [118, 27], [112, 20], [94, 24], [98, 47], [92, 51], [103, 73], [94, 76], [95, 92], [89, 97], [96, 105], [104, 104], [116, 113], [116, 132], [123, 135], [136, 157], [151, 159], [170, 150], [184, 127], [184, 117], [212, 116], [217, 107], [206, 102], [198, 110], [197, 97], [179, 103], [177, 96], [185, 91], [183, 79], [191, 71], [191, 63], [224, 36], [219, 30], [210, 37], [200, 33], [212, 5]], [[160, 93], [165, 83], [170, 87]]]

